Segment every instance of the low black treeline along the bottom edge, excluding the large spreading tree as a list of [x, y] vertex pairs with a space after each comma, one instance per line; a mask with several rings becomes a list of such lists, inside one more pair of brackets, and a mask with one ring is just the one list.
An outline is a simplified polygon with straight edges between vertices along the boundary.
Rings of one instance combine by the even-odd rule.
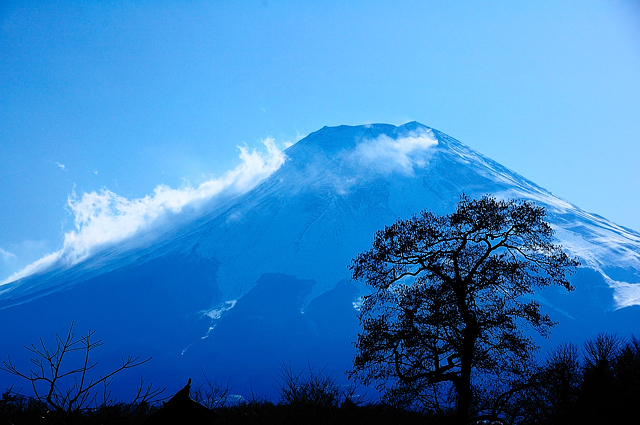
[[[455, 409], [434, 412], [367, 400], [362, 388], [343, 386], [324, 370], [295, 372], [282, 366], [276, 401], [231, 394], [229, 384], [187, 386], [168, 401], [105, 400], [73, 415], [7, 389], [0, 398], [0, 424], [449, 424]], [[496, 415], [473, 423], [638, 423], [640, 339], [599, 334], [583, 345], [565, 343], [537, 365], [531, 380], [495, 400]], [[64, 413], [64, 414], [60, 414]], [[185, 422], [186, 421], [186, 422]], [[493, 421], [493, 422], [492, 422]]]

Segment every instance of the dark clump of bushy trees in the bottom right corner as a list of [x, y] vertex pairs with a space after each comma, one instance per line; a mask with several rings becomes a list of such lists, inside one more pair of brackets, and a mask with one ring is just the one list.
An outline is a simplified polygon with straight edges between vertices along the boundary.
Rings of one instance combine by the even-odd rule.
[[521, 397], [526, 423], [640, 423], [640, 339], [599, 334], [553, 350]]

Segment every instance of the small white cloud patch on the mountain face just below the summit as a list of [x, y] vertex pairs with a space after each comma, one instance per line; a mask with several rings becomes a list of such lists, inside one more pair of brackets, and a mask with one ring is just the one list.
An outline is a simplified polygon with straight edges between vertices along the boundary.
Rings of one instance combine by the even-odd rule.
[[431, 148], [437, 145], [431, 130], [412, 132], [397, 139], [381, 134], [358, 143], [352, 159], [383, 174], [399, 172], [412, 176], [415, 168], [426, 166]]

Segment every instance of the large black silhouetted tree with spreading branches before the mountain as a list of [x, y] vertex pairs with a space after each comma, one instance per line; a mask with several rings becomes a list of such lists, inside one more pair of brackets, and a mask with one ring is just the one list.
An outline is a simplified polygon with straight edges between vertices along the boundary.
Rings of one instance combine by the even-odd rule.
[[505, 393], [522, 385], [536, 348], [522, 326], [547, 335], [554, 325], [527, 296], [571, 290], [579, 264], [551, 242], [544, 216], [532, 202], [463, 196], [452, 214], [423, 211], [378, 231], [350, 265], [374, 289], [351, 376], [376, 382], [388, 400], [454, 404], [465, 424], [482, 408], [478, 380], [491, 375]]

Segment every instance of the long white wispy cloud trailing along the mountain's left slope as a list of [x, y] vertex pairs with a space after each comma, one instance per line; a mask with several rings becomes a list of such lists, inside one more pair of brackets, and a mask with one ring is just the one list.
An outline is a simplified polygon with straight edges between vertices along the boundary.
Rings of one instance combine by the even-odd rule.
[[[187, 209], [197, 209], [218, 196], [239, 195], [255, 187], [284, 163], [284, 153], [273, 139], [262, 141], [266, 152], [239, 147], [242, 163], [219, 178], [200, 184], [172, 189], [157, 186], [153, 193], [139, 199], [127, 199], [108, 189], [72, 194], [68, 207], [74, 215], [75, 229], [64, 235], [63, 247], [2, 283], [12, 282], [52, 265], [70, 266], [88, 258], [102, 248], [162, 226], [168, 217]], [[5, 251], [2, 251], [4, 255]]]

